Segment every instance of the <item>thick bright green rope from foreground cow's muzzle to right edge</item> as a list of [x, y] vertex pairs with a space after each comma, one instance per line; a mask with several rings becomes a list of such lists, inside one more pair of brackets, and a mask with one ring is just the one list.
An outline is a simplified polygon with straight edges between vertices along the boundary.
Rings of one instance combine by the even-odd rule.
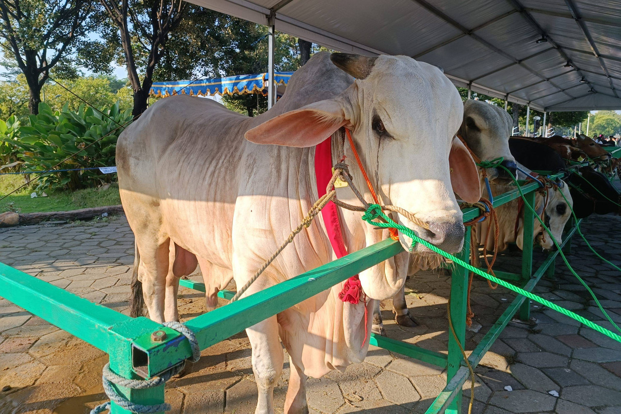
[[[518, 187], [519, 188], [519, 187]], [[528, 203], [525, 203], [525, 205], [528, 205]], [[535, 214], [535, 216], [537, 216], [537, 214]], [[381, 221], [373, 221], [374, 219], [381, 217], [382, 219], [384, 219], [386, 221], [386, 223], [383, 223]], [[548, 308], [555, 310], [557, 312], [562, 313], [563, 315], [569, 316], [569, 318], [572, 318], [576, 321], [579, 321], [580, 323], [585, 324], [586, 326], [588, 326], [591, 329], [594, 329], [595, 331], [604, 334], [605, 336], [608, 336], [609, 338], [614, 339], [615, 341], [621, 343], [621, 336], [619, 336], [619, 334], [616, 334], [612, 331], [609, 331], [606, 328], [603, 328], [602, 326], [599, 326], [596, 323], [593, 323], [589, 320], [587, 320], [586, 318], [570, 311], [564, 308], [561, 308], [561, 306], [556, 305], [555, 303], [552, 303], [549, 300], [546, 300], [542, 297], [539, 297], [537, 295], [535, 295], [534, 293], [530, 293], [527, 292], [526, 290], [519, 288], [517, 286], [514, 286], [508, 282], [505, 282], [502, 279], [499, 279], [495, 276], [492, 276], [490, 274], [486, 274], [485, 272], [483, 272], [482, 270], [477, 269], [476, 267], [474, 267], [473, 265], [464, 262], [461, 259], [458, 259], [457, 257], [453, 256], [450, 253], [447, 253], [441, 249], [438, 249], [438, 247], [433, 246], [433, 244], [424, 241], [423, 239], [421, 239], [420, 237], [416, 236], [416, 234], [414, 233], [414, 231], [412, 231], [412, 229], [407, 228], [406, 226], [402, 226], [401, 224], [397, 224], [394, 221], [392, 221], [391, 218], [389, 218], [388, 216], [386, 216], [386, 214], [383, 213], [381, 206], [376, 205], [376, 204], [371, 204], [369, 205], [369, 208], [366, 209], [365, 214], [363, 214], [362, 219], [364, 221], [366, 221], [367, 223], [373, 225], [373, 226], [378, 226], [381, 228], [395, 228], [399, 231], [401, 231], [402, 233], [406, 234], [406, 236], [410, 237], [412, 239], [412, 246], [410, 247], [410, 251], [412, 251], [412, 249], [414, 248], [414, 244], [415, 243], [420, 243], [423, 246], [427, 247], [428, 249], [436, 252], [439, 255], [442, 255], [443, 257], [446, 257], [446, 259], [450, 259], [453, 260], [454, 263], [460, 265], [461, 267], [465, 267], [466, 269], [470, 270], [471, 272], [474, 272], [476, 274], [478, 274], [479, 276], [482, 276], [484, 278], [487, 278], [489, 280], [491, 280], [494, 283], [498, 283], [499, 285], [501, 285], [502, 287], [505, 287], [509, 290], [512, 290], [515, 293], [518, 293], [519, 295], [523, 295], [529, 299], [532, 299], [534, 301], [537, 301], [539, 303], [541, 303], [542, 305], [548, 306]], [[561, 251], [559, 251], [559, 253], [561, 253]], [[610, 320], [612, 322], [612, 320]], [[614, 322], [612, 322], [612, 324], [614, 324]], [[616, 324], [614, 324], [614, 326], [617, 326]], [[619, 329], [619, 327], [617, 326], [617, 329]]]

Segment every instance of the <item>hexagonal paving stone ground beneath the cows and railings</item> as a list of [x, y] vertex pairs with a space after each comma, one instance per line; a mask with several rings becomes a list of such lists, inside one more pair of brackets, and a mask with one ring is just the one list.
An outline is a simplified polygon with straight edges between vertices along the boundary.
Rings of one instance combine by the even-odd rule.
[[[621, 265], [620, 217], [594, 216], [582, 228], [599, 252]], [[127, 313], [133, 240], [123, 217], [107, 223], [2, 229], [0, 262]], [[536, 254], [538, 261], [543, 257]], [[498, 269], [517, 271], [519, 258], [519, 253], [503, 254]], [[621, 323], [619, 272], [602, 264], [576, 239], [568, 259], [611, 318]], [[560, 260], [557, 264], [556, 280], [542, 280], [535, 292], [610, 328], [584, 287]], [[384, 301], [388, 336], [445, 352], [449, 283], [450, 277], [432, 272], [407, 282], [410, 312], [422, 323], [417, 328], [394, 324], [391, 305]], [[204, 312], [200, 293], [181, 288], [179, 298], [182, 320]], [[512, 298], [502, 288], [491, 290], [483, 280], [475, 280], [474, 320], [483, 328], [468, 331], [468, 351]], [[539, 321], [537, 326], [510, 323], [476, 368], [473, 413], [621, 413], [621, 344], [537, 304], [532, 316]], [[245, 335], [227, 339], [202, 355], [189, 374], [166, 385], [173, 413], [253, 413], [256, 387]], [[104, 399], [101, 369], [106, 361], [106, 354], [93, 346], [0, 298], [0, 389], [11, 387], [0, 392], [1, 414], [88, 413]], [[277, 412], [283, 411], [288, 374], [285, 364], [274, 397]], [[444, 370], [371, 347], [362, 364], [309, 380], [308, 400], [311, 413], [424, 413], [445, 381]], [[505, 390], [507, 385], [512, 391]], [[468, 382], [464, 404], [469, 387]]]

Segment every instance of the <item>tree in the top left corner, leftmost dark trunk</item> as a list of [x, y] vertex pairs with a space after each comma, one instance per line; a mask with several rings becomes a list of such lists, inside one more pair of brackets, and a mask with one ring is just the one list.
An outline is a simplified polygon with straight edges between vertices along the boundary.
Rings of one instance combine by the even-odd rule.
[[0, 43], [25, 76], [30, 113], [39, 112], [50, 70], [90, 30], [93, 11], [91, 0], [0, 0]]

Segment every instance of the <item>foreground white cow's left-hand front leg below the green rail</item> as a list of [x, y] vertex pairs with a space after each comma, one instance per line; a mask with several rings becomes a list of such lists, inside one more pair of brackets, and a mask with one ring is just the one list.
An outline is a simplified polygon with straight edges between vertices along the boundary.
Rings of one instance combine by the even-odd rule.
[[255, 414], [274, 414], [274, 386], [283, 373], [283, 347], [276, 316], [246, 329], [252, 346], [252, 370], [259, 395]]

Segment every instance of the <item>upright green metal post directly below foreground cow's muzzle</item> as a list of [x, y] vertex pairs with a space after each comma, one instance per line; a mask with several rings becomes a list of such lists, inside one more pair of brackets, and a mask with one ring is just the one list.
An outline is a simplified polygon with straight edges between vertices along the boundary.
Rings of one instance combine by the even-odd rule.
[[[466, 228], [466, 235], [464, 237], [464, 248], [459, 254], [461, 260], [468, 261], [470, 257], [470, 228]], [[453, 376], [460, 369], [463, 356], [461, 354], [461, 347], [465, 346], [466, 342], [466, 301], [468, 300], [468, 270], [463, 267], [459, 267], [453, 272], [451, 277], [451, 293], [450, 293], [450, 313], [451, 322], [453, 323], [453, 330], [455, 336], [451, 333], [449, 326], [448, 334], [448, 369], [446, 375], [446, 382], [450, 382]], [[459, 343], [458, 343], [459, 341]], [[446, 410], [446, 414], [459, 414], [461, 413], [461, 393], [451, 402]]]

